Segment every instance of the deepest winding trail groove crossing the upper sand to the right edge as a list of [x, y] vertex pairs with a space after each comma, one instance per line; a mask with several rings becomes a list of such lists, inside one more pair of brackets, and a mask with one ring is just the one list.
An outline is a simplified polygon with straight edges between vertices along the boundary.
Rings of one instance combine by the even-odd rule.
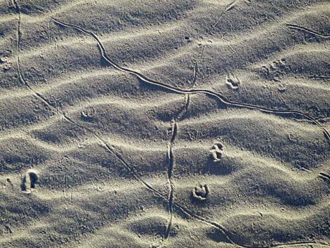
[[109, 63], [115, 69], [117, 69], [121, 72], [133, 74], [134, 76], [138, 77], [138, 79], [144, 81], [147, 84], [159, 86], [163, 89], [168, 89], [169, 91], [180, 93], [180, 94], [185, 94], [185, 95], [192, 94], [192, 93], [204, 93], [208, 96], [216, 97], [218, 100], [220, 100], [221, 103], [224, 103], [225, 105], [229, 105], [229, 106], [245, 107], [245, 108], [249, 108], [249, 109], [253, 109], [253, 110], [260, 110], [261, 112], [272, 113], [272, 114], [277, 114], [277, 115], [291, 115], [291, 116], [300, 115], [301, 117], [304, 117], [305, 119], [309, 119], [310, 121], [315, 123], [317, 126], [319, 126], [319, 128], [324, 132], [324, 135], [326, 136], [326, 138], [330, 141], [330, 133], [328, 131], [326, 131], [326, 129], [324, 129], [324, 127], [321, 124], [319, 124], [319, 122], [317, 122], [317, 120], [314, 117], [311, 117], [310, 115], [307, 115], [303, 112], [294, 111], [294, 110], [272, 110], [267, 107], [260, 107], [258, 105], [252, 105], [252, 104], [248, 104], [248, 103], [237, 103], [237, 102], [234, 102], [231, 100], [227, 100], [227, 98], [225, 98], [225, 96], [223, 96], [222, 94], [217, 93], [215, 91], [208, 90], [208, 89], [180, 89], [177, 86], [171, 86], [169, 84], [165, 84], [163, 82], [155, 81], [154, 79], [150, 79], [150, 78], [146, 77], [145, 75], [141, 74], [140, 72], [136, 72], [136, 71], [128, 69], [126, 67], [121, 67], [116, 62], [114, 62], [114, 60], [112, 60], [110, 57], [107, 56], [107, 53], [105, 52], [105, 48], [104, 48], [103, 44], [101, 43], [100, 39], [98, 39], [98, 37], [96, 36], [96, 34], [94, 34], [91, 31], [84, 30], [83, 28], [81, 28], [77, 25], [60, 22], [59, 20], [56, 20], [55, 18], [51, 18], [51, 19], [62, 27], [69, 27], [69, 28], [78, 30], [79, 32], [83, 32], [84, 34], [88, 34], [89, 36], [93, 37], [95, 39], [95, 41], [98, 43], [98, 48], [100, 49], [102, 58], [105, 61], [107, 61], [107, 63]]

